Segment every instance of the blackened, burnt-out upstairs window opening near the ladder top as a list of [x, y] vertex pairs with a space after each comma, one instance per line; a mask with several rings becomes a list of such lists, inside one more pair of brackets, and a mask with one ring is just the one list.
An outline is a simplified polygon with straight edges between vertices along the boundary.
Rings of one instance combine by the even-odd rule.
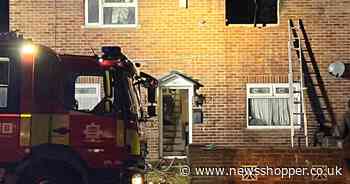
[[226, 25], [278, 24], [279, 0], [226, 0]]

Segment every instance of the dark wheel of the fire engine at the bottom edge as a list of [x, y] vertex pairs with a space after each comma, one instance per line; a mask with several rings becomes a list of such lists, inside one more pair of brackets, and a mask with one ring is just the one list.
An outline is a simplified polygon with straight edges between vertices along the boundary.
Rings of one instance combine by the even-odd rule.
[[60, 161], [41, 160], [31, 163], [19, 176], [17, 184], [77, 184], [81, 175]]

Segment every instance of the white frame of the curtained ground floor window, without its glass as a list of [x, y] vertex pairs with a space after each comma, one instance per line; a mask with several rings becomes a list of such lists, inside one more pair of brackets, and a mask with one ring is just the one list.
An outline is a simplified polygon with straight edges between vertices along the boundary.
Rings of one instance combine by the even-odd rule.
[[[251, 88], [269, 88], [270, 93], [266, 94], [251, 94], [250, 89]], [[259, 125], [249, 125], [249, 99], [252, 98], [286, 98], [289, 99], [289, 93], [284, 94], [277, 94], [276, 89], [277, 88], [289, 88], [288, 83], [249, 83], [247, 84], [247, 98], [246, 98], [246, 119], [247, 119], [247, 128], [248, 129], [290, 129], [291, 126], [278, 126], [278, 125], [270, 125], [270, 126], [259, 126]], [[299, 87], [297, 84], [294, 84], [295, 90], [299, 90]], [[294, 94], [295, 101], [300, 99], [300, 94], [295, 93]], [[289, 103], [289, 101], [288, 101]], [[294, 108], [298, 108], [297, 111], [300, 112], [300, 107], [297, 105], [294, 105]], [[293, 117], [295, 118], [295, 117]], [[296, 125], [294, 125], [295, 129], [300, 128], [300, 120], [298, 119], [298, 122]]]

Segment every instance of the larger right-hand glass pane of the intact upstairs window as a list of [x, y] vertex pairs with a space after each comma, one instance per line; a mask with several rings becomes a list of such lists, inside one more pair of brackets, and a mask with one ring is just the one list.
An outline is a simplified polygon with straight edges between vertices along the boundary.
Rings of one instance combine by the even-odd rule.
[[105, 7], [104, 24], [135, 24], [135, 7]]

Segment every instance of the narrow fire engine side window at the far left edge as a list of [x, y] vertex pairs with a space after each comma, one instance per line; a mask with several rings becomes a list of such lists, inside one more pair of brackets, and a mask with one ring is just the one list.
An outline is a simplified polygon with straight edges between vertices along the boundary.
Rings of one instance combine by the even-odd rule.
[[7, 107], [9, 85], [9, 59], [0, 57], [0, 108]]

